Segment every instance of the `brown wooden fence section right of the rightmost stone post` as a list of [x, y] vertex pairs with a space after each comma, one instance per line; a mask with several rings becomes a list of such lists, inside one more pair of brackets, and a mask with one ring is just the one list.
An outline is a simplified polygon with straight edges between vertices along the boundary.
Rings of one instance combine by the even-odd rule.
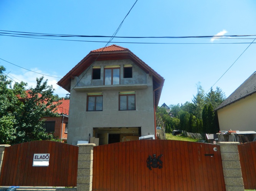
[[244, 189], [256, 189], [256, 141], [238, 145]]

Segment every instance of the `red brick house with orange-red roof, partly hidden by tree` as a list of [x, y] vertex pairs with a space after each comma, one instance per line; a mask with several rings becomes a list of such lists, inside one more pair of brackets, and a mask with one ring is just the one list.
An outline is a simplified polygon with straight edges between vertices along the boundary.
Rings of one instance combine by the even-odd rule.
[[[25, 102], [25, 99], [30, 99], [30, 94], [26, 91], [26, 98], [21, 98], [18, 95], [18, 99], [22, 102]], [[41, 94], [38, 94], [41, 97]], [[69, 112], [69, 99], [65, 100], [64, 98], [59, 100], [61, 102], [58, 105], [56, 112], [59, 114], [59, 117], [43, 117], [42, 120], [45, 120], [44, 128], [46, 132], [53, 133], [53, 136], [56, 139], [60, 139], [61, 142], [67, 141], [68, 134], [68, 112]]]

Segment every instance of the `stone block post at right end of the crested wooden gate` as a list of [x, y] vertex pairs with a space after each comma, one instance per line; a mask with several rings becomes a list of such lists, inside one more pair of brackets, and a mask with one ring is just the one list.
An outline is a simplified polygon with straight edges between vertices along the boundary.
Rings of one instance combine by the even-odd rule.
[[226, 191], [244, 191], [244, 183], [238, 153], [239, 142], [218, 142], [220, 145]]

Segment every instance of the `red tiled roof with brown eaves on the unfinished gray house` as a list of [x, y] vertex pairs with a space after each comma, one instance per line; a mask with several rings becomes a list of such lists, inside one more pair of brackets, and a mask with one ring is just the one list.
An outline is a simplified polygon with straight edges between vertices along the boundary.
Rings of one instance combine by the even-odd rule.
[[96, 60], [132, 60], [137, 66], [139, 66], [145, 73], [153, 76], [153, 88], [155, 94], [155, 107], [157, 107], [164, 86], [164, 78], [160, 76], [156, 71], [150, 68], [139, 57], [132, 53], [129, 49], [118, 46], [110, 45], [100, 49], [92, 50], [86, 57], [83, 58], [74, 68], [72, 68], [61, 80], [58, 81], [58, 85], [63, 87], [66, 91], [71, 91], [71, 79], [74, 76], [79, 76], [89, 66], [91, 66]]

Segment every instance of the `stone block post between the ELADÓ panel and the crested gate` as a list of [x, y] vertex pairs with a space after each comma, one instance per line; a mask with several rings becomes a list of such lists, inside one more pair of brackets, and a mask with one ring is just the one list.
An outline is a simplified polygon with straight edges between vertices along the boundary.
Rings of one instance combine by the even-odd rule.
[[92, 190], [92, 161], [95, 144], [78, 144], [77, 191]]

